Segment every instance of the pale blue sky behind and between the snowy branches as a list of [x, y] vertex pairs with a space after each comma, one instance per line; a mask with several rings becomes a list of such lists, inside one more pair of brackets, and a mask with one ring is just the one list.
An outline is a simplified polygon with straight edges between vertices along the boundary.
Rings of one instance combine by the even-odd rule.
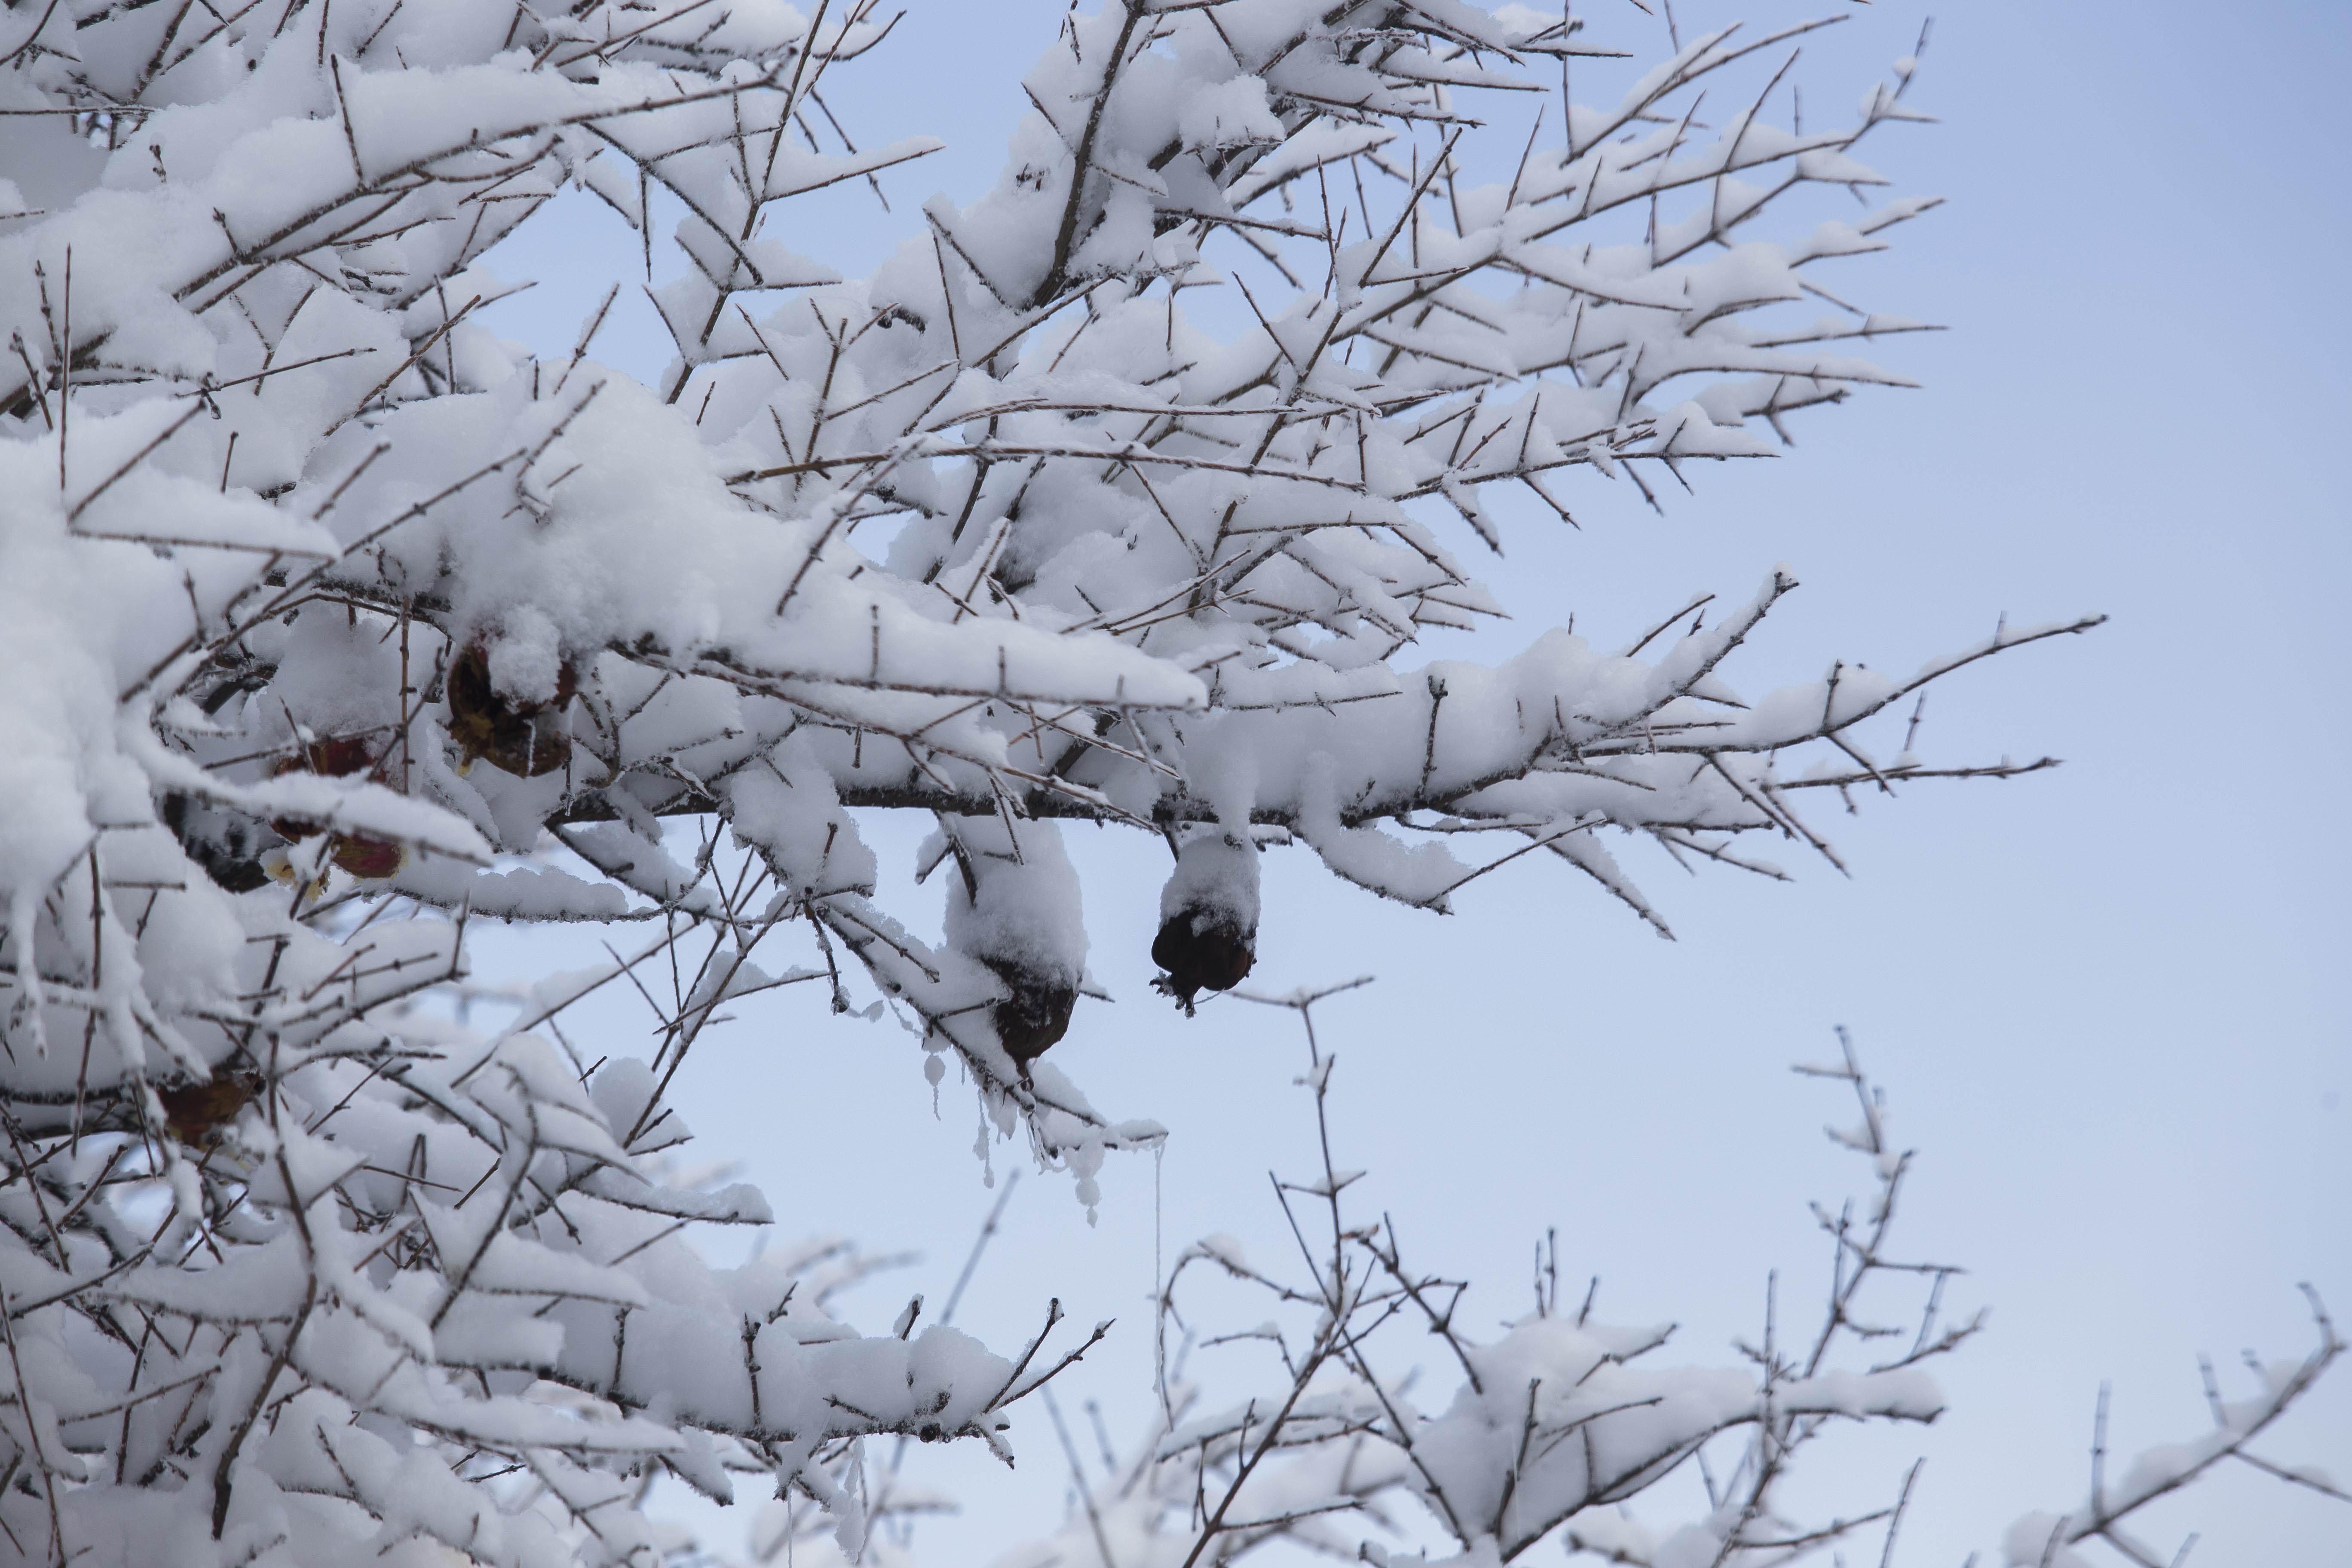
[[[1766, 0], [1677, 9], [1686, 31], [1717, 12], [1792, 14]], [[2013, 1516], [2074, 1507], [2103, 1380], [2112, 1448], [2129, 1453], [2204, 1427], [2197, 1352], [2227, 1378], [2241, 1347], [2310, 1349], [2296, 1281], [2352, 1321], [2352, 757], [2324, 712], [2352, 689], [2333, 108], [2352, 7], [1952, 9], [1915, 87], [1943, 122], [1867, 146], [1898, 193], [1950, 202], [1896, 230], [1893, 254], [1839, 273], [1849, 299], [1952, 327], [1879, 346], [1926, 388], [1804, 414], [1799, 451], [1703, 473], [1663, 520], [1599, 477], [1571, 496], [1583, 534], [1510, 512], [1510, 555], [1484, 574], [1515, 618], [1470, 646], [1503, 658], [1571, 611], [1595, 642], [1630, 642], [1693, 588], [1748, 595], [1776, 562], [1804, 590], [1729, 668], [1748, 696], [1837, 656], [1910, 670], [2004, 611], [2107, 611], [2096, 635], [1938, 686], [1919, 736], [1938, 764], [2067, 764], [1858, 797], [1858, 818], [1816, 809], [1851, 882], [1792, 846], [1771, 853], [1795, 886], [1686, 879], [1632, 853], [1677, 943], [1536, 856], [1439, 919], [1277, 851], [1254, 976], [1265, 990], [1381, 976], [1319, 1013], [1341, 1058], [1338, 1159], [1371, 1168], [1367, 1208], [1395, 1215], [1423, 1267], [1479, 1281], [1465, 1321], [1529, 1309], [1529, 1246], [1557, 1225], [1562, 1274], [1602, 1276], [1599, 1316], [1679, 1321], [1661, 1354], [1700, 1363], [1757, 1333], [1769, 1269], [1785, 1324], [1818, 1302], [1828, 1251], [1806, 1201], [1863, 1192], [1865, 1171], [1820, 1135], [1851, 1100], [1788, 1063], [1832, 1056], [1832, 1025], [1849, 1025], [1889, 1086], [1898, 1140], [1919, 1150], [1900, 1251], [1966, 1265], [1950, 1305], [1992, 1307], [1990, 1331], [1940, 1371], [1940, 1422], [1849, 1446], [1853, 1462], [1818, 1467], [1802, 1493], [1823, 1512], [1877, 1507], [1929, 1455], [1898, 1556], [1910, 1566], [1957, 1566], [1969, 1549], [1997, 1561]], [[950, 150], [884, 176], [894, 219], [849, 190], [788, 209], [771, 233], [863, 270], [917, 233], [929, 193], [971, 200], [1058, 14], [1044, 0], [908, 0], [887, 54], [844, 68], [828, 99], [861, 146], [938, 134]], [[1621, 5], [1595, 14], [1602, 38], [1663, 52], [1663, 24]], [[1886, 0], [1809, 42], [1809, 120], [1816, 101], [1849, 110], [1910, 52], [1922, 14]], [[539, 277], [494, 320], [564, 353], [633, 254], [609, 214], [564, 197], [494, 256]], [[668, 348], [642, 296], [623, 296], [595, 353], [659, 374]], [[1898, 750], [1898, 736], [1877, 741]], [[873, 842], [884, 900], [936, 929], [938, 884], [906, 896], [920, 827], [877, 825]], [[1291, 1018], [1228, 999], [1185, 1023], [1150, 994], [1167, 851], [1108, 830], [1073, 832], [1073, 849], [1091, 969], [1117, 1004], [1082, 1004], [1054, 1063], [1105, 1112], [1157, 1117], [1171, 1138], [1157, 1171], [1110, 1161], [1094, 1227], [1065, 1175], [1025, 1175], [957, 1324], [1004, 1347], [1047, 1295], [1077, 1324], [1117, 1316], [1065, 1408], [1101, 1399], [1124, 1443], [1150, 1389], [1155, 1182], [1169, 1255], [1230, 1232], [1282, 1258], [1265, 1173], [1308, 1171], [1312, 1124], [1291, 1086]], [[482, 966], [536, 952], [494, 938]], [[644, 1023], [616, 1001], [574, 1039], [642, 1051]], [[941, 1307], [995, 1194], [969, 1088], [950, 1077], [934, 1119], [920, 1053], [894, 1025], [840, 1023], [807, 987], [783, 992], [696, 1046], [684, 1103], [696, 1150], [741, 1159], [783, 1234], [842, 1229], [924, 1255], [854, 1298], [866, 1328], [913, 1291]], [[1023, 1145], [993, 1161], [1002, 1178]], [[1432, 1380], [1444, 1371], [1430, 1361]], [[1425, 1399], [1442, 1401], [1437, 1387]], [[1044, 1413], [1014, 1439], [1014, 1476], [981, 1455], [922, 1455], [967, 1514], [924, 1526], [920, 1556], [983, 1563], [1061, 1519]], [[2352, 1479], [2352, 1368], [2258, 1448]], [[2204, 1568], [2352, 1561], [2352, 1509], [2244, 1467], [2152, 1509], [2143, 1535], [2171, 1554], [2187, 1530], [2204, 1533]]]

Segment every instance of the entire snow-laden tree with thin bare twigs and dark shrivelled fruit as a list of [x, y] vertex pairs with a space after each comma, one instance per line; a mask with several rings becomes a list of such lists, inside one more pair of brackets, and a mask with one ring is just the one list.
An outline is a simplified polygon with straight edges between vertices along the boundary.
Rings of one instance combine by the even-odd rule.
[[[1162, 1133], [1040, 1060], [1089, 990], [1065, 820], [1167, 839], [1155, 957], [1190, 1004], [1251, 966], [1268, 846], [1432, 910], [1541, 849], [1663, 933], [1604, 839], [1780, 875], [1738, 842], [1835, 863], [1813, 792], [2044, 766], [1931, 766], [1907, 733], [1872, 759], [1858, 726], [2096, 616], [1750, 703], [1726, 670], [1776, 571], [1628, 649], [1411, 663], [1498, 611], [1461, 559], [1498, 545], [1494, 487], [1566, 517], [1578, 470], [1651, 494], [1903, 381], [1856, 350], [1917, 322], [1846, 306], [1842, 270], [1931, 205], [1872, 205], [1858, 158], [1917, 118], [1915, 63], [1806, 118], [1816, 26], [1677, 35], [1566, 108], [1613, 56], [1581, 16], [1073, 12], [995, 190], [842, 280], [790, 197], [931, 148], [858, 150], [823, 96], [837, 68], [887, 87], [849, 66], [873, 0], [12, 0], [0, 1552], [647, 1563], [654, 1474], [757, 1474], [856, 1556], [861, 1439], [1002, 1450], [1091, 1340], [1058, 1309], [1002, 1352], [915, 1309], [861, 1335], [826, 1309], [863, 1267], [837, 1248], [701, 1262], [684, 1227], [767, 1220], [666, 1164], [666, 1091], [729, 997], [840, 1009], [863, 966], [931, 1081], [955, 1058], [1091, 1201]], [[1484, 125], [1538, 101], [1524, 148]], [[557, 360], [477, 320], [508, 289], [480, 256], [567, 183], [647, 256], [682, 212], [659, 386], [588, 357], [602, 310]], [[1832, 188], [1865, 200], [1792, 214]], [[889, 912], [861, 809], [936, 818], [946, 945]], [[691, 863], [680, 816], [715, 823]], [[612, 961], [477, 1030], [470, 917], [600, 924]], [[567, 1058], [557, 1016], [654, 971], [652, 1063]], [[1395, 1490], [1477, 1561], [1562, 1523], [1623, 1561], [1773, 1561], [1806, 1422], [1936, 1408], [1900, 1359], [1635, 1373], [1644, 1335], [1545, 1298], [1496, 1345], [1449, 1328], [1465, 1392], [1411, 1415], [1364, 1314], [1442, 1321], [1439, 1286], [1341, 1218], [1341, 1178], [1315, 1279], [1268, 1276], [1317, 1324], [1282, 1418], [1169, 1399], [1122, 1505], [1164, 1549], [1127, 1568]], [[2223, 1448], [2333, 1352], [2218, 1403]], [[1578, 1523], [1731, 1427], [1755, 1462], [1712, 1556]], [[2025, 1554], [2107, 1523], [2070, 1519]]]

